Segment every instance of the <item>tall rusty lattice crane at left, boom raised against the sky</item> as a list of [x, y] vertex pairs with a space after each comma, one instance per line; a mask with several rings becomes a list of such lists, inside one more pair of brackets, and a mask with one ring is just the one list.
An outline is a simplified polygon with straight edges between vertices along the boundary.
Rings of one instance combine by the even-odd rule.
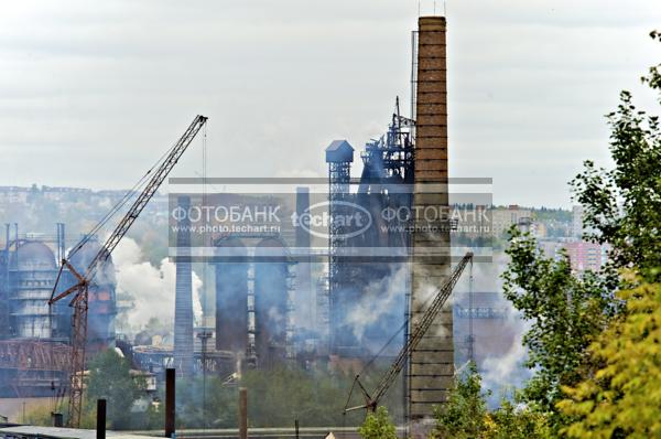
[[[121, 218], [115, 231], [110, 234], [108, 239], [104, 246], [100, 247], [99, 251], [91, 259], [85, 272], [79, 272], [66, 258], [62, 259], [62, 265], [59, 268], [59, 274], [57, 275], [57, 279], [55, 280], [55, 286], [53, 287], [53, 292], [51, 293], [51, 299], [48, 300], [48, 307], [52, 307], [57, 301], [73, 296], [73, 299], [69, 302], [69, 307], [73, 308], [73, 320], [72, 320], [72, 376], [69, 381], [69, 403], [68, 403], [68, 419], [67, 426], [77, 428], [80, 426], [80, 410], [83, 407], [83, 378], [85, 372], [85, 345], [87, 344], [87, 311], [89, 307], [89, 295], [88, 289], [93, 283], [95, 275], [97, 271], [102, 268], [104, 264], [112, 253], [112, 250], [117, 247], [121, 238], [127, 234], [131, 225], [138, 220], [138, 216], [147, 205], [147, 203], [151, 200], [154, 193], [159, 190], [159, 186], [172, 168], [176, 164], [182, 154], [186, 151], [197, 132], [204, 127], [207, 118], [204, 116], [196, 116], [191, 126], [186, 129], [184, 135], [177, 140], [177, 142], [167, 151], [167, 153], [162, 158], [158, 168], [152, 169], [148, 172], [147, 175], [149, 178], [147, 184], [144, 184], [144, 189], [138, 195], [127, 214]], [[145, 176], [147, 176], [145, 175]], [[128, 196], [123, 200], [128, 200]], [[113, 210], [115, 211], [115, 210]], [[116, 211], [115, 211], [116, 212]], [[111, 212], [113, 214], [115, 212]], [[107, 215], [108, 218], [110, 215]], [[95, 229], [98, 231], [98, 226]], [[74, 251], [79, 249], [87, 240], [84, 238], [76, 247], [74, 247]], [[71, 258], [69, 254], [69, 258]], [[59, 282], [59, 277], [62, 275], [62, 270], [66, 268], [68, 269], [74, 277], [76, 278], [76, 283], [63, 292], [57, 293], [57, 283]], [[78, 375], [79, 374], [79, 375]]]

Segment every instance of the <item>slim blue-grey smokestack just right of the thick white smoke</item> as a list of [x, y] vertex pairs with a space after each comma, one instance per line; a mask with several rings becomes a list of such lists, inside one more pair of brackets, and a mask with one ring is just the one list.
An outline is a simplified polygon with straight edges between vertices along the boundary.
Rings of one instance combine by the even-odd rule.
[[176, 234], [176, 288], [174, 303], [174, 365], [180, 375], [193, 374], [193, 272], [191, 269], [191, 197], [177, 199], [180, 212], [185, 212], [178, 221]]

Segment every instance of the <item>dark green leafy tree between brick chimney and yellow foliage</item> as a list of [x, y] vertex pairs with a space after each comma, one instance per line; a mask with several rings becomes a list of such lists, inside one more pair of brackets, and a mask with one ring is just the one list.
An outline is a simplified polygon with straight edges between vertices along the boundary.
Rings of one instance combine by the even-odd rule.
[[522, 397], [549, 413], [557, 429], [564, 422], [555, 408], [561, 386], [581, 379], [585, 350], [617, 311], [611, 281], [590, 271], [575, 277], [566, 255], [548, 258], [529, 234], [516, 227], [510, 233], [503, 292], [530, 322], [522, 342], [525, 365], [535, 371]]

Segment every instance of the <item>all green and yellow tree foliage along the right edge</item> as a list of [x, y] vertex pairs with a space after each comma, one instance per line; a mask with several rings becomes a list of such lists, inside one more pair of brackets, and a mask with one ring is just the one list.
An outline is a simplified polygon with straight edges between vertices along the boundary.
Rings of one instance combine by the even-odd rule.
[[[661, 41], [657, 32], [651, 36]], [[659, 93], [661, 65], [651, 67], [643, 83]], [[661, 101], [661, 94], [659, 98]], [[616, 269], [636, 267], [642, 279], [652, 283], [661, 280], [661, 125], [658, 116], [638, 110], [628, 92], [621, 93], [608, 124], [614, 168], [605, 170], [586, 161], [571, 185], [584, 207], [586, 238], [608, 244], [610, 263], [599, 274], [573, 276], [566, 256], [545, 258], [530, 236], [512, 229], [507, 250], [511, 263], [503, 275], [506, 297], [531, 324], [523, 342], [529, 351], [528, 366], [535, 375], [523, 397], [550, 415], [555, 433], [565, 431], [576, 437], [633, 435], [637, 430], [627, 430], [631, 425], [626, 422], [636, 421], [636, 409], [627, 411], [627, 407], [639, 403], [644, 425], [643, 419], [653, 416], [648, 418], [649, 408], [642, 397], [636, 399], [637, 395], [643, 395], [641, 388], [651, 390], [646, 386], [652, 383], [658, 386], [653, 364], [648, 361], [659, 342], [644, 351], [637, 344], [642, 340], [636, 338], [647, 338], [651, 331], [631, 308], [640, 306], [637, 295], [642, 291], [616, 296], [618, 288], [635, 286], [630, 279], [619, 278]], [[654, 314], [651, 308], [646, 312]], [[609, 329], [603, 332], [605, 328]], [[596, 344], [588, 350], [593, 342]], [[659, 407], [659, 401], [652, 406]], [[652, 411], [661, 415], [658, 409]], [[563, 428], [575, 417], [576, 424]]]

